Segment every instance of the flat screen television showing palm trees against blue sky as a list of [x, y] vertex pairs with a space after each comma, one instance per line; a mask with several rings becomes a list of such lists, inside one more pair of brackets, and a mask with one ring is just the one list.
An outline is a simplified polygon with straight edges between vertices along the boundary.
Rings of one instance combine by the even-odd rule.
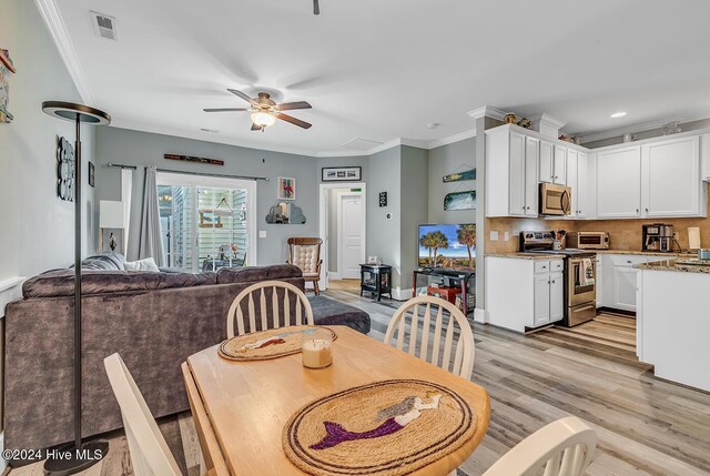
[[419, 225], [420, 267], [471, 270], [476, 266], [476, 225]]

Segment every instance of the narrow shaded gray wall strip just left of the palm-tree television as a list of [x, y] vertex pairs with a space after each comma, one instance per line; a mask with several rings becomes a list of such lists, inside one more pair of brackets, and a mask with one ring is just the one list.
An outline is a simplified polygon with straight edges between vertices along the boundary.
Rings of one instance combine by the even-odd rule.
[[[418, 267], [418, 227], [428, 222], [428, 162], [426, 150], [402, 148], [402, 215], [399, 246], [402, 250], [403, 291], [412, 287], [412, 272]], [[443, 205], [442, 205], [443, 206]]]

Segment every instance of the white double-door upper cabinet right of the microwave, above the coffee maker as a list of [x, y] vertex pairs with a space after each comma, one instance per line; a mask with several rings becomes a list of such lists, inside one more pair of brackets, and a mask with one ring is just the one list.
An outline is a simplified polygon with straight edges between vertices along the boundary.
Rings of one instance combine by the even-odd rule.
[[625, 144], [596, 155], [597, 217], [707, 216], [699, 135]]

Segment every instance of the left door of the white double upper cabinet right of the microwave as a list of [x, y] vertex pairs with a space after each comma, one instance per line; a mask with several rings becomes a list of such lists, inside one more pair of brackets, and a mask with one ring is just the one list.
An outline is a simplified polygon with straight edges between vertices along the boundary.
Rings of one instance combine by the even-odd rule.
[[641, 148], [597, 154], [597, 217], [641, 216]]

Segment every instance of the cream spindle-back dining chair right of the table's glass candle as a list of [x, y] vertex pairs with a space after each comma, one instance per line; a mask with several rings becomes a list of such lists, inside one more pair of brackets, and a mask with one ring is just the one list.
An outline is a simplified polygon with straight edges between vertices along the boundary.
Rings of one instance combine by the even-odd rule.
[[[429, 347], [432, 326], [434, 341]], [[409, 355], [470, 378], [475, 357], [474, 332], [462, 310], [448, 301], [417, 296], [404, 303], [389, 321], [385, 344], [392, 344], [395, 337], [398, 350], [405, 351], [406, 343]]]

